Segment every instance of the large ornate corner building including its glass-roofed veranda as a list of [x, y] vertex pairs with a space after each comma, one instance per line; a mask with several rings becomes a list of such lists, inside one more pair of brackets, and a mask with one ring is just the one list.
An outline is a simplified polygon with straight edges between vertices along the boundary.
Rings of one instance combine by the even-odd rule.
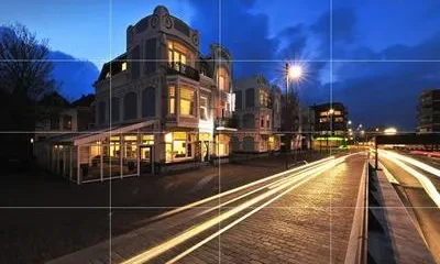
[[86, 183], [227, 157], [232, 57], [217, 44], [204, 56], [199, 40], [163, 6], [129, 25], [127, 51], [94, 84], [95, 128], [46, 141], [46, 167]]

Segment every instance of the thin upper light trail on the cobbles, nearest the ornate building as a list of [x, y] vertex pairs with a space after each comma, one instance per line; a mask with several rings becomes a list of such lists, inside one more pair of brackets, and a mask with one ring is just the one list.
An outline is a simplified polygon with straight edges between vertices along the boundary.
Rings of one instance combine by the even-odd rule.
[[326, 158], [322, 158], [322, 160], [319, 160], [319, 161], [316, 161], [316, 162], [308, 163], [308, 164], [302, 165], [302, 166], [298, 166], [298, 167], [295, 167], [295, 168], [292, 168], [292, 169], [288, 169], [288, 170], [278, 173], [278, 174], [274, 174], [273, 176], [265, 177], [265, 178], [262, 178], [262, 179], [252, 182], [252, 183], [250, 183], [250, 184], [246, 184], [246, 185], [237, 187], [237, 188], [234, 188], [234, 189], [230, 189], [230, 190], [227, 190], [227, 191], [224, 191], [224, 193], [221, 193], [221, 194], [218, 194], [218, 195], [215, 195], [215, 196], [211, 196], [211, 197], [208, 197], [208, 198], [205, 198], [205, 199], [201, 199], [201, 200], [191, 202], [191, 204], [189, 204], [189, 205], [186, 205], [186, 206], [183, 206], [183, 207], [173, 209], [173, 210], [170, 210], [170, 211], [166, 211], [166, 212], [161, 213], [161, 215], [158, 215], [158, 216], [156, 216], [156, 217], [150, 218], [148, 220], [150, 220], [150, 221], [160, 220], [160, 219], [163, 219], [163, 218], [166, 218], [166, 217], [176, 215], [176, 213], [178, 213], [178, 212], [182, 212], [182, 211], [191, 209], [191, 208], [194, 208], [194, 207], [204, 205], [204, 204], [206, 204], [206, 202], [208, 202], [208, 201], [211, 201], [211, 200], [221, 198], [221, 197], [223, 197], [223, 196], [231, 195], [231, 194], [234, 194], [234, 193], [237, 193], [237, 191], [246, 189], [246, 188], [252, 187], [252, 186], [255, 186], [255, 185], [257, 185], [257, 184], [262, 184], [262, 183], [265, 183], [265, 182], [267, 182], [267, 180], [271, 180], [271, 179], [274, 179], [274, 178], [277, 178], [277, 177], [282, 177], [282, 176], [284, 176], [284, 175], [286, 175], [286, 174], [290, 174], [290, 173], [294, 173], [294, 172], [297, 172], [297, 170], [300, 170], [300, 169], [305, 169], [305, 168], [308, 168], [308, 167], [311, 167], [311, 166], [315, 166], [315, 165], [318, 165], [318, 164], [321, 164], [321, 163], [324, 163], [324, 162], [328, 162], [328, 161], [332, 161], [332, 160], [334, 160], [334, 156], [329, 156], [329, 157], [326, 157]]

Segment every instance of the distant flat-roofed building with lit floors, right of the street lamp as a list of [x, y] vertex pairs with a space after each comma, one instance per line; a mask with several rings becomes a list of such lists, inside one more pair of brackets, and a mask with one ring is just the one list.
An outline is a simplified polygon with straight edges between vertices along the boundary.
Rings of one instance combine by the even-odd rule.
[[345, 145], [348, 136], [349, 113], [342, 102], [312, 106], [315, 114], [316, 147], [339, 147]]

